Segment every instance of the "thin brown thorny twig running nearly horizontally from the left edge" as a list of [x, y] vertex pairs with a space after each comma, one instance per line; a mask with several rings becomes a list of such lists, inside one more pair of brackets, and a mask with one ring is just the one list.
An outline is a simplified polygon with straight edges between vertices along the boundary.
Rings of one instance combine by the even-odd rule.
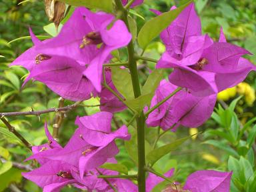
[[51, 108], [51, 109], [45, 109], [41, 111], [25, 111], [25, 112], [9, 112], [9, 113], [0, 113], [0, 117], [10, 117], [10, 116], [26, 116], [26, 115], [42, 115], [45, 113], [53, 113], [58, 111], [71, 111], [75, 109], [81, 101], [78, 101], [74, 103], [73, 105], [68, 105], [66, 107], [60, 107], [60, 108]]

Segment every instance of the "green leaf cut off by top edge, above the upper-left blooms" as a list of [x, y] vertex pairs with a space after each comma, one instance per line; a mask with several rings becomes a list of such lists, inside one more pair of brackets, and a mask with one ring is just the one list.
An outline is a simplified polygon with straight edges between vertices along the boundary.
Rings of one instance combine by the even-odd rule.
[[101, 9], [102, 11], [107, 11], [111, 13], [113, 11], [112, 0], [60, 0], [64, 3], [73, 6], [84, 6], [89, 9]]

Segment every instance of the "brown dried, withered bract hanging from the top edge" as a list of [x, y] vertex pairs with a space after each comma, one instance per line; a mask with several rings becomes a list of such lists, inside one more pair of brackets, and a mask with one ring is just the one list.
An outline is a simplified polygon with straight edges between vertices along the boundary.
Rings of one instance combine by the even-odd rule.
[[55, 27], [59, 27], [64, 18], [66, 5], [63, 2], [57, 0], [45, 0], [45, 12], [49, 21], [53, 21]]

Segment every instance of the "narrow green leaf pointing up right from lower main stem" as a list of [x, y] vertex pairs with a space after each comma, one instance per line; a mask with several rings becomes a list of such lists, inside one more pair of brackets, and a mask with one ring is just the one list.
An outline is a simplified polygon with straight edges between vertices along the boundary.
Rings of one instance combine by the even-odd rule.
[[189, 138], [191, 138], [191, 136], [184, 137], [182, 139], [177, 139], [173, 143], [169, 143], [167, 145], [154, 149], [153, 151], [147, 154], [147, 163], [149, 163], [150, 165], [154, 165], [159, 159], [161, 159], [161, 157], [163, 157], [167, 153], [170, 153], [171, 151], [175, 151]]

